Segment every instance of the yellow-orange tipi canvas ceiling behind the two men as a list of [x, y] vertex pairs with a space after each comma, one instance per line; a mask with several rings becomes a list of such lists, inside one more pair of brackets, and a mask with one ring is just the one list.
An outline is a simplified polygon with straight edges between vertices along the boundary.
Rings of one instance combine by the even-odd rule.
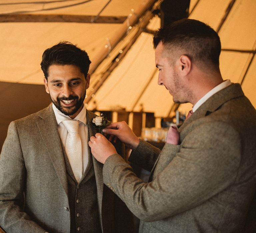
[[[173, 106], [172, 97], [164, 87], [157, 85], [158, 71], [154, 63], [152, 35], [143, 32], [140, 28], [143, 20], [144, 22], [149, 20], [146, 14], [152, 16], [147, 29], [155, 30], [160, 27], [160, 19], [145, 11], [145, 8], [153, 6], [154, 2], [150, 0], [1, 1], [0, 82], [43, 85], [43, 73], [40, 69], [43, 51], [59, 41], [70, 41], [85, 49], [92, 61], [93, 74], [87, 91], [88, 98], [85, 100], [88, 109], [93, 108], [94, 101], [100, 110], [111, 110], [121, 106], [127, 111], [138, 111], [140, 104], [143, 104], [146, 112], [154, 112], [158, 117], [168, 116]], [[154, 7], [157, 4], [158, 2]], [[191, 12], [189, 18], [201, 20], [219, 31], [223, 48], [220, 57], [222, 76], [232, 82], [241, 83], [243, 91], [254, 107], [256, 107], [255, 9], [255, 0], [191, 0], [189, 8]], [[143, 15], [140, 15], [141, 12]], [[15, 14], [16, 18], [27, 14], [36, 17], [34, 22], [14, 22], [15, 20], [10, 19], [12, 14]], [[86, 23], [49, 22], [49, 20], [39, 22], [48, 14], [62, 15], [63, 18], [65, 15], [66, 18], [96, 17], [89, 17]], [[106, 20], [104, 16], [111, 16], [110, 21], [119, 20], [120, 23], [97, 23], [97, 20], [104, 22]], [[137, 16], [140, 16], [138, 24]], [[95, 22], [90, 22], [93, 19], [96, 19]], [[7, 20], [9, 22], [6, 22]], [[135, 36], [138, 37], [135, 43], [128, 46]], [[118, 56], [121, 56], [126, 46], [129, 48], [128, 52], [119, 59]], [[114, 68], [113, 64], [115, 64]], [[103, 77], [106, 77], [104, 82], [102, 82]], [[180, 111], [187, 112], [191, 106], [181, 105], [179, 108]]]

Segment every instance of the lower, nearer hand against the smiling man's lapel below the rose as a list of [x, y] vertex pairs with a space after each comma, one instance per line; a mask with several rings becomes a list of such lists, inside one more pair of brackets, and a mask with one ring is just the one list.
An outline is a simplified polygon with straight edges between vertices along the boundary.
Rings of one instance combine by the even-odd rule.
[[101, 133], [91, 136], [88, 144], [91, 147], [93, 156], [103, 164], [110, 155], [117, 154], [115, 147]]

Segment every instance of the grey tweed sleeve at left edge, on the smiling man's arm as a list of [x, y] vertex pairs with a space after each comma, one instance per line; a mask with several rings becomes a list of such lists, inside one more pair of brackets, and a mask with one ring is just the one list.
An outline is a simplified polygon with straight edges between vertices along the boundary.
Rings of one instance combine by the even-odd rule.
[[0, 226], [7, 232], [46, 232], [23, 212], [26, 167], [15, 121], [0, 155]]

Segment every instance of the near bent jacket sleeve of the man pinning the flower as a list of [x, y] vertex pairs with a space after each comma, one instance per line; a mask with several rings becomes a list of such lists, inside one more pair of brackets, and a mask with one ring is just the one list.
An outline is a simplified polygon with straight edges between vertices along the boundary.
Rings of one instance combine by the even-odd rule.
[[[178, 150], [177, 146], [180, 146]], [[104, 164], [104, 183], [143, 221], [177, 215], [235, 182], [241, 140], [227, 123], [202, 124], [177, 146], [166, 143], [154, 172], [159, 166], [162, 168], [148, 183], [139, 179], [117, 154], [111, 155]], [[169, 155], [173, 158], [169, 159]]]

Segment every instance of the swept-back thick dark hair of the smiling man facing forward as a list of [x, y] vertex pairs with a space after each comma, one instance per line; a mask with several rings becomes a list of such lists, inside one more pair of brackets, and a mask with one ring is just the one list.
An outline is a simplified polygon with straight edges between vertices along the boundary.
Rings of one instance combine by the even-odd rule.
[[75, 65], [80, 68], [84, 76], [87, 76], [91, 61], [88, 54], [76, 45], [63, 41], [46, 49], [42, 56], [41, 69], [44, 77], [48, 78], [48, 69], [51, 65]]

